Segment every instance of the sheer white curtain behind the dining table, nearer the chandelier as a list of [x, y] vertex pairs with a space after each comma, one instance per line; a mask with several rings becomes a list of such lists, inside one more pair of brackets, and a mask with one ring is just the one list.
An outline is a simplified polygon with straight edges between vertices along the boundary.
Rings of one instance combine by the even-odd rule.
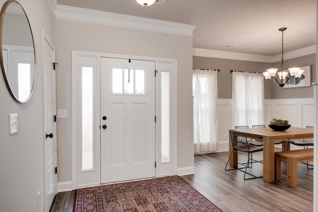
[[262, 73], [232, 72], [234, 125], [264, 124], [264, 78]]

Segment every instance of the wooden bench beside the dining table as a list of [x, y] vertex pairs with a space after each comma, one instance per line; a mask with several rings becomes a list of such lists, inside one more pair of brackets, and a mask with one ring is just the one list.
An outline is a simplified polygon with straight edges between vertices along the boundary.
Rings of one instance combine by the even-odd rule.
[[314, 148], [275, 152], [275, 181], [281, 180], [281, 161], [287, 163], [287, 185], [297, 187], [298, 163], [314, 160]]

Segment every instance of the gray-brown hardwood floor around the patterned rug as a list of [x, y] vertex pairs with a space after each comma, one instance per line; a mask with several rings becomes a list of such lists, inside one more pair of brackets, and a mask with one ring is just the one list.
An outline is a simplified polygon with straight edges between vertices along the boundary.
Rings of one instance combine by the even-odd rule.
[[[243, 172], [224, 171], [228, 152], [194, 155], [195, 174], [181, 176], [189, 185], [224, 212], [313, 212], [314, 172], [298, 164], [298, 187], [286, 185], [286, 163], [282, 180], [266, 183], [262, 178], [243, 180]], [[247, 156], [239, 154], [239, 161]], [[253, 159], [261, 159], [254, 153]], [[262, 175], [262, 164], [253, 163], [253, 173]], [[72, 212], [75, 191], [59, 193], [50, 212]]]

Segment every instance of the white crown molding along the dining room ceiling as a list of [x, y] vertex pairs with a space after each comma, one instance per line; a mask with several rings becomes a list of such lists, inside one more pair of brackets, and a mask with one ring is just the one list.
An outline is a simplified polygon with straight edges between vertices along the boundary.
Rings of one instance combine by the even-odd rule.
[[[284, 59], [293, 59], [305, 55], [315, 54], [317, 52], [316, 45], [305, 47], [291, 52], [284, 53]], [[193, 48], [193, 56], [208, 57], [208, 58], [221, 58], [239, 61], [252, 61], [262, 63], [275, 63], [282, 59], [282, 55], [266, 56], [266, 55], [253, 55], [238, 52], [227, 52], [209, 49]]]

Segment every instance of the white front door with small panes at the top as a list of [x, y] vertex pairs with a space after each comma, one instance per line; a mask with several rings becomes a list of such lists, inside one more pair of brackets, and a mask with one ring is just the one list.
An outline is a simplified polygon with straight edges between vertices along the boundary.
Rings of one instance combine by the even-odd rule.
[[101, 183], [155, 177], [155, 62], [100, 63]]

